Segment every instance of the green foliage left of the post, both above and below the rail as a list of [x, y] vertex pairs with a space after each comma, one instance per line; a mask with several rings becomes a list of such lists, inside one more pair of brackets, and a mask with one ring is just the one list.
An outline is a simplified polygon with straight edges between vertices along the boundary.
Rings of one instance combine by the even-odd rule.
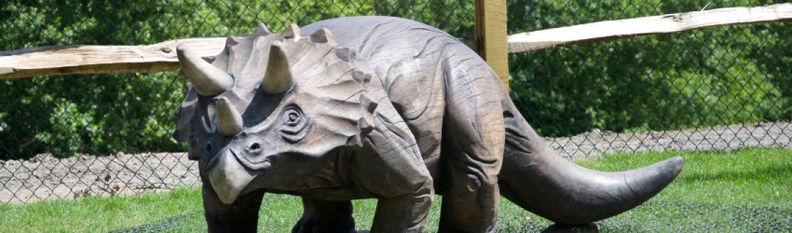
[[[0, 50], [56, 44], [154, 44], [196, 36], [280, 32], [333, 17], [407, 17], [470, 37], [473, 2], [386, 1], [63, 1], [0, 3]], [[40, 153], [184, 151], [171, 139], [173, 109], [184, 98], [177, 71], [55, 75], [0, 81], [0, 159]]]

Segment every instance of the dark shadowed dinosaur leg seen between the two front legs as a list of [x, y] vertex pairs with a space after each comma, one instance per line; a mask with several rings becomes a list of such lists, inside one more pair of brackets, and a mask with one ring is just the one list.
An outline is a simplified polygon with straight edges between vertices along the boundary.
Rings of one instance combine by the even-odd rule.
[[291, 233], [301, 232], [355, 232], [352, 218], [352, 201], [321, 201], [303, 197], [303, 217]]

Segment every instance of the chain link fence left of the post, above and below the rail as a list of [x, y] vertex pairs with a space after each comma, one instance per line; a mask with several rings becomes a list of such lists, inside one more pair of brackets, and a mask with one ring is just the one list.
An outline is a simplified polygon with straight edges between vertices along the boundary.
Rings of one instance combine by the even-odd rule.
[[[473, 38], [473, 1], [6, 1], [0, 50], [154, 44], [280, 32], [334, 17], [387, 15]], [[0, 81], [0, 203], [192, 185], [195, 162], [171, 138], [184, 74], [53, 75]], [[181, 77], [181, 78], [179, 78]]]

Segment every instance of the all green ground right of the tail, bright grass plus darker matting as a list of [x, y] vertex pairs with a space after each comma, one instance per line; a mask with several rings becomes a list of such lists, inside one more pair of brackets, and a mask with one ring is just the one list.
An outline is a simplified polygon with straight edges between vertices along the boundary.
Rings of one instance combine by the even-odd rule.
[[602, 232], [792, 232], [792, 151], [610, 155], [578, 161], [617, 171], [682, 156], [682, 173], [646, 204], [601, 221]]

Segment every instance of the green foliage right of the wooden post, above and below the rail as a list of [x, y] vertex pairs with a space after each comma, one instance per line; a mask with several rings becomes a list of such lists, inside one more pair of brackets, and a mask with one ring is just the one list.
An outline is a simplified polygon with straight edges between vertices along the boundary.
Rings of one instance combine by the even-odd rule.
[[[509, 1], [509, 33], [700, 10], [697, 1]], [[714, 3], [708, 9], [773, 2]], [[512, 100], [543, 136], [790, 120], [788, 23], [510, 55]]]

